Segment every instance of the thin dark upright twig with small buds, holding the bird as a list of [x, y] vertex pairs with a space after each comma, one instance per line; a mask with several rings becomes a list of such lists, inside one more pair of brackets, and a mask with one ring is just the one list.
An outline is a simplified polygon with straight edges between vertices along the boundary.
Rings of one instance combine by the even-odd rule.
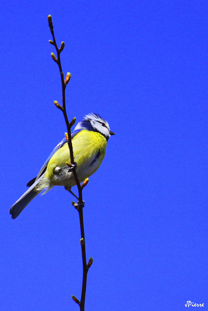
[[70, 152], [70, 163], [69, 166], [73, 167], [73, 175], [74, 179], [79, 191], [79, 201], [78, 203], [72, 202], [72, 205], [78, 210], [79, 212], [79, 219], [80, 219], [80, 229], [81, 229], [81, 247], [82, 247], [82, 262], [83, 262], [83, 282], [82, 282], [82, 295], [81, 295], [81, 300], [79, 301], [75, 296], [72, 295], [72, 299], [80, 306], [80, 311], [85, 311], [85, 296], [86, 296], [86, 286], [87, 286], [87, 272], [89, 267], [92, 265], [93, 259], [90, 257], [89, 262], [87, 263], [86, 260], [86, 247], [85, 247], [85, 231], [84, 231], [84, 220], [83, 220], [83, 207], [85, 206], [85, 202], [83, 201], [82, 197], [82, 190], [83, 188], [87, 185], [88, 183], [88, 178], [83, 182], [82, 185], [80, 185], [79, 178], [76, 172], [76, 163], [74, 162], [74, 155], [73, 155], [73, 148], [72, 148], [72, 141], [71, 141], [71, 127], [74, 125], [76, 118], [73, 118], [72, 121], [69, 123], [68, 116], [67, 116], [67, 111], [66, 111], [66, 97], [65, 97], [65, 89], [66, 86], [70, 80], [70, 73], [67, 73], [67, 76], [64, 80], [64, 73], [62, 71], [61, 67], [61, 59], [60, 59], [60, 53], [63, 51], [65, 47], [65, 43], [61, 42], [60, 49], [58, 49], [56, 41], [55, 41], [55, 36], [53, 32], [53, 25], [52, 25], [52, 16], [48, 16], [48, 22], [49, 22], [49, 27], [52, 33], [52, 40], [49, 40], [49, 42], [54, 45], [56, 52], [57, 52], [57, 57], [55, 57], [54, 53], [51, 53], [52, 59], [57, 63], [61, 75], [61, 84], [62, 84], [62, 106], [58, 104], [57, 101], [54, 101], [54, 104], [56, 107], [60, 110], [62, 110], [64, 114], [64, 119], [67, 125], [67, 131], [68, 131], [68, 146], [69, 146], [69, 152]]

